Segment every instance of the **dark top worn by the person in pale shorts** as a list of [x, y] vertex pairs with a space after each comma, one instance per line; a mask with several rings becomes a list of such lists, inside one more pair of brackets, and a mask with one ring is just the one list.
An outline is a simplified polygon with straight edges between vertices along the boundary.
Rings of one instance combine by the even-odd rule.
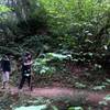
[[3, 72], [11, 72], [10, 61], [1, 59], [1, 69]]

